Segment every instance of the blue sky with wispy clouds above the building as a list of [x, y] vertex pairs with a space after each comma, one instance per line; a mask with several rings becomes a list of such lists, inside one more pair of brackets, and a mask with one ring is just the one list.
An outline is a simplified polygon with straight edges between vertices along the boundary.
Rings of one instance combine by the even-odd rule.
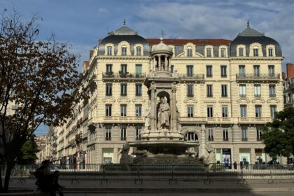
[[[0, 13], [17, 10], [25, 22], [37, 15], [39, 38], [52, 34], [80, 55], [80, 66], [100, 38], [127, 26], [144, 38], [225, 38], [246, 29], [281, 44], [283, 65], [294, 62], [293, 0], [0, 0]], [[284, 69], [283, 69], [284, 71]], [[46, 134], [42, 125], [36, 135]]]

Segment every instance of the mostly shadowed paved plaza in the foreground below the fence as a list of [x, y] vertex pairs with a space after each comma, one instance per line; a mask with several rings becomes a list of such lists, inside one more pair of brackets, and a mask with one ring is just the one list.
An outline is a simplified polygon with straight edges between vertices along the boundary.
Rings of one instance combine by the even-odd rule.
[[[20, 183], [13, 179], [11, 190], [20, 190], [22, 195], [40, 195], [34, 193], [36, 186], [34, 179]], [[143, 181], [141, 184], [131, 180], [109, 181], [101, 183], [94, 180], [60, 180], [64, 186], [64, 195], [294, 195], [294, 181], [246, 181], [237, 184], [237, 181]], [[24, 193], [26, 192], [26, 193]], [[1, 194], [0, 194], [1, 195]]]

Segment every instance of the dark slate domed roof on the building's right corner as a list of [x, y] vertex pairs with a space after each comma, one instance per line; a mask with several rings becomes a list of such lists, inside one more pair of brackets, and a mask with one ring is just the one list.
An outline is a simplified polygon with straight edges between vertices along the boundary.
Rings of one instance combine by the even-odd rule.
[[262, 45], [263, 55], [266, 55], [266, 46], [267, 45], [275, 45], [276, 46], [276, 57], [282, 56], [281, 45], [275, 41], [273, 38], [265, 36], [265, 34], [256, 31], [249, 27], [249, 23], [247, 23], [247, 28], [239, 33], [239, 35], [232, 41], [230, 45], [230, 56], [237, 56], [237, 45], [246, 45], [246, 56], [249, 54], [249, 46], [252, 43], [260, 43]]

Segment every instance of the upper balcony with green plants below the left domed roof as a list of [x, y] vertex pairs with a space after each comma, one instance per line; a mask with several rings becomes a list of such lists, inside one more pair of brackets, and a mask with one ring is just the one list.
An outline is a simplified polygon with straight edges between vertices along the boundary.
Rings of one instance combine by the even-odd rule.
[[145, 80], [145, 73], [102, 73], [103, 80]]

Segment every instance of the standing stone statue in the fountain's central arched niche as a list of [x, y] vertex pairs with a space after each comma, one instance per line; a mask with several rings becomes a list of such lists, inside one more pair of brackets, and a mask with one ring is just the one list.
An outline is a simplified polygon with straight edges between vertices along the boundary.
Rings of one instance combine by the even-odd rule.
[[169, 104], [164, 97], [160, 99], [160, 106], [158, 109], [158, 129], [169, 129]]

